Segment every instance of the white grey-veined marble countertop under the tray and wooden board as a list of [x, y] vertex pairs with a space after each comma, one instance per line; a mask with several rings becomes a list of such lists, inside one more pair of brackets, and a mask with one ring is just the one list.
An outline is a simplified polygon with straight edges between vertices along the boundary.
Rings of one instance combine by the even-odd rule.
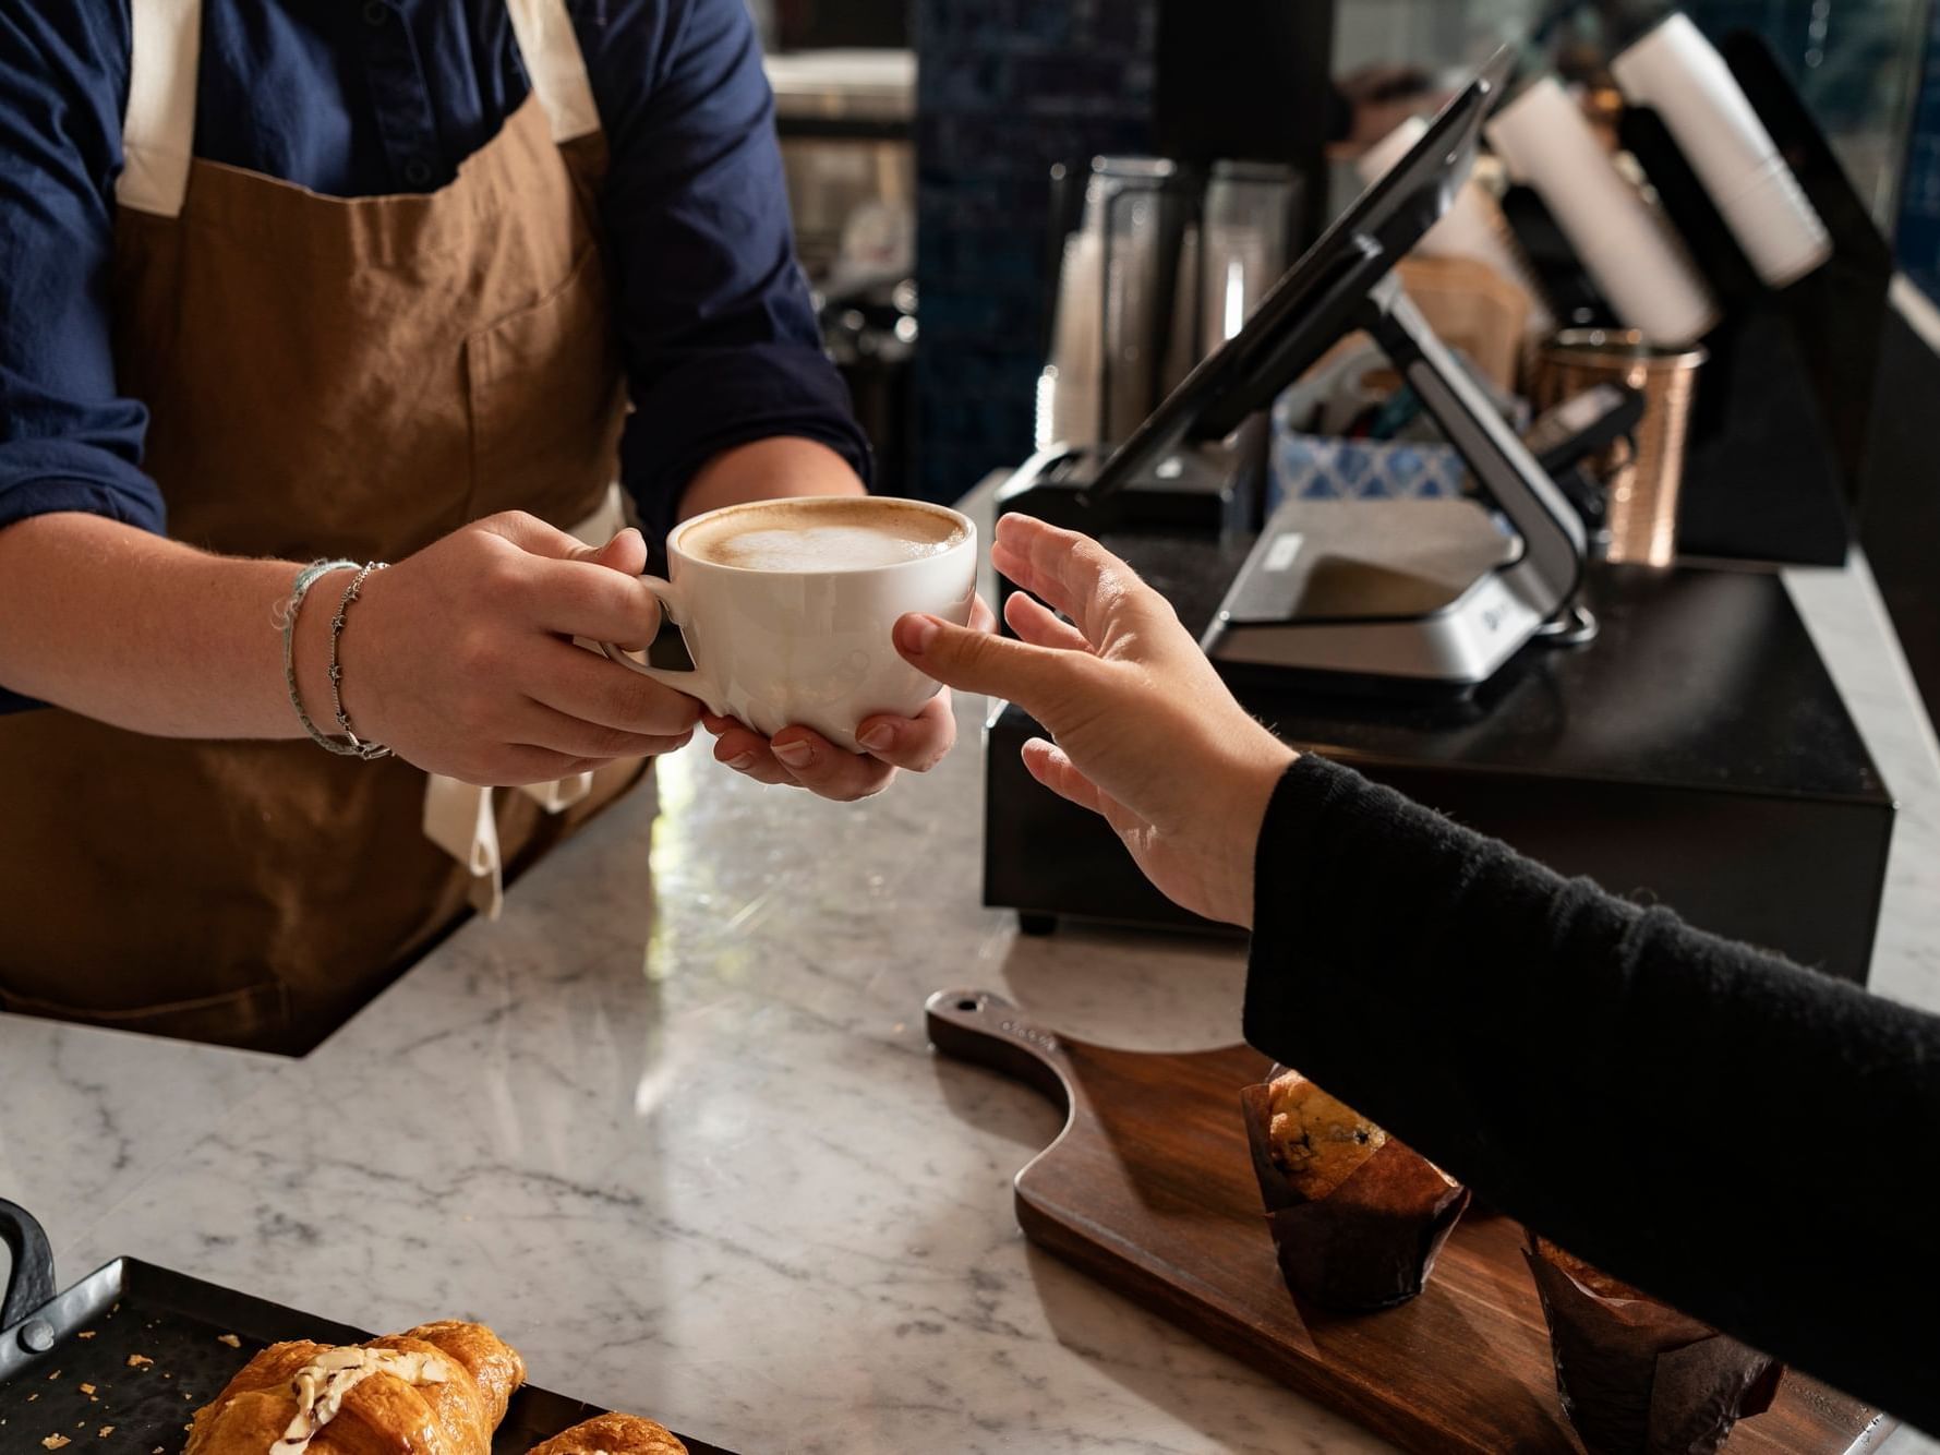
[[[1940, 757], [1862, 572], [1791, 572], [1901, 799], [1874, 986], [1940, 1009]], [[303, 1061], [0, 1017], [0, 1195], [134, 1253], [749, 1451], [1387, 1445], [1026, 1245], [1034, 1092], [933, 1057], [984, 986], [1090, 1040], [1238, 1038], [1240, 953], [978, 906], [982, 704], [861, 805], [704, 749]], [[1893, 1449], [1940, 1449], [1915, 1438]]]

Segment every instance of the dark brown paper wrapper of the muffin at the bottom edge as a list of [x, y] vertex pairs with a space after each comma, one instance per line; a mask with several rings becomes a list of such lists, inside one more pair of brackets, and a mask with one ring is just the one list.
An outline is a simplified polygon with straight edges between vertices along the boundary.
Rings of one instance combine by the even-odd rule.
[[1608, 1298], [1527, 1247], [1564, 1414], [1591, 1455], [1711, 1455], [1763, 1414], [1785, 1366], [1688, 1313]]

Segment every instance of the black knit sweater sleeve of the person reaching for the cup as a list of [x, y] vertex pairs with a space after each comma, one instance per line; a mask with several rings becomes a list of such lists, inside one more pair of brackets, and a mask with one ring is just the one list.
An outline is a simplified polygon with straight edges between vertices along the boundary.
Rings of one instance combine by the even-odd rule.
[[1940, 1432], [1940, 1018], [1302, 757], [1245, 1036], [1579, 1257]]

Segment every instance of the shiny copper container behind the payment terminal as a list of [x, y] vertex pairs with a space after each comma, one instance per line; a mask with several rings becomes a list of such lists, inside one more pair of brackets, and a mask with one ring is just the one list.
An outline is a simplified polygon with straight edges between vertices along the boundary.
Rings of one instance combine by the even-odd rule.
[[[1668, 566], [1678, 551], [1678, 489], [1701, 347], [1659, 349], [1635, 330], [1571, 328], [1542, 345], [1536, 404], [1550, 409], [1597, 384], [1643, 392], [1643, 419], [1589, 468], [1610, 497], [1608, 559]], [[1632, 448], [1635, 444], [1635, 448]]]

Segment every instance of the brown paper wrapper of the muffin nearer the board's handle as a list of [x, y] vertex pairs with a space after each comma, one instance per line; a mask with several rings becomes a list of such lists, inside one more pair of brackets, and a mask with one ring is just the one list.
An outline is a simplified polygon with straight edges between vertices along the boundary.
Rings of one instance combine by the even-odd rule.
[[1422, 1292], [1469, 1189], [1389, 1137], [1327, 1197], [1308, 1201], [1273, 1160], [1269, 1088], [1245, 1086], [1240, 1104], [1288, 1290], [1341, 1311], [1391, 1308]]

